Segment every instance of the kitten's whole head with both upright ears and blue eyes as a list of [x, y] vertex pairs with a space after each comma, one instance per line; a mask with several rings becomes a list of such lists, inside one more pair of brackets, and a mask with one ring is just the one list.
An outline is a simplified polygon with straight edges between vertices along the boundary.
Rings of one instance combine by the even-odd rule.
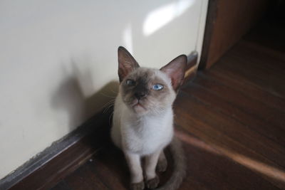
[[187, 57], [178, 56], [160, 69], [140, 68], [123, 47], [118, 48], [118, 75], [123, 102], [138, 114], [159, 114], [171, 107], [182, 85]]

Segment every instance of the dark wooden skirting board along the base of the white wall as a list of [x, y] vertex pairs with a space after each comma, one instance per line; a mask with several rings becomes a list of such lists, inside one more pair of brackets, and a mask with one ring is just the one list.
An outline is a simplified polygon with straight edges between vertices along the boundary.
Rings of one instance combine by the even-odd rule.
[[[197, 53], [187, 56], [184, 84], [195, 78]], [[110, 142], [113, 107], [100, 112], [81, 127], [33, 157], [0, 180], [0, 189], [49, 189], [76, 170]]]

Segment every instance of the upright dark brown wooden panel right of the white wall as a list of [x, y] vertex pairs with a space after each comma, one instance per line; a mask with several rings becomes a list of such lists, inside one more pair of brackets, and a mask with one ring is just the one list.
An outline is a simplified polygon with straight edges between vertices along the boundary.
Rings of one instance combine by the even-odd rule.
[[266, 0], [210, 0], [199, 67], [209, 68], [266, 12]]

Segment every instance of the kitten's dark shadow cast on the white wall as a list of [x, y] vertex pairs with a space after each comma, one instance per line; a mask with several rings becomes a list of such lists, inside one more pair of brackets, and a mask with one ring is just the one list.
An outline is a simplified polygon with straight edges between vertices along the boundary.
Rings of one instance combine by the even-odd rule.
[[72, 62], [72, 65], [71, 75], [62, 81], [53, 94], [51, 106], [59, 112], [65, 113], [68, 117], [70, 130], [75, 130], [100, 110], [108, 110], [113, 105], [118, 94], [119, 83], [110, 81], [92, 95], [84, 95], [83, 89], [93, 86], [91, 71], [87, 70], [81, 73], [76, 67], [76, 63]]

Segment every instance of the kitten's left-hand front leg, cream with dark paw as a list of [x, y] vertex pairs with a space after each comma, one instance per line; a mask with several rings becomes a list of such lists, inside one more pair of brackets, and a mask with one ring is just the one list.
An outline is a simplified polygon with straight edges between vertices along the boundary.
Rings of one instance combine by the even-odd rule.
[[130, 189], [142, 190], [145, 189], [143, 182], [142, 167], [140, 165], [140, 155], [125, 152], [125, 158], [130, 169]]

